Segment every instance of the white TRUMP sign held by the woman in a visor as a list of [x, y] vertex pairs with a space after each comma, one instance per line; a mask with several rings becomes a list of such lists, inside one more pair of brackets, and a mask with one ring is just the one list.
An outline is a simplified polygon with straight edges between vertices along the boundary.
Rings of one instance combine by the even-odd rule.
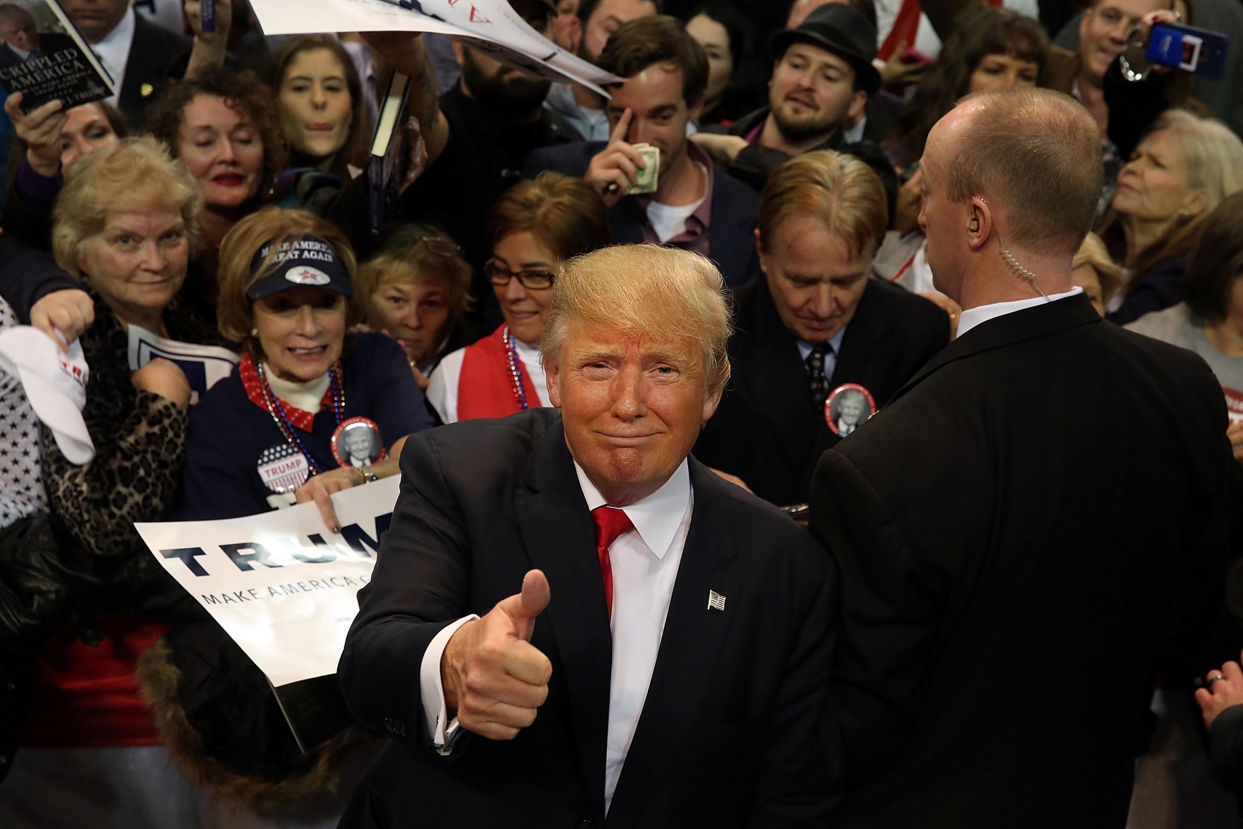
[[332, 496], [339, 534], [327, 531], [313, 503], [134, 527], [164, 569], [280, 687], [337, 671], [400, 482], [394, 475]]

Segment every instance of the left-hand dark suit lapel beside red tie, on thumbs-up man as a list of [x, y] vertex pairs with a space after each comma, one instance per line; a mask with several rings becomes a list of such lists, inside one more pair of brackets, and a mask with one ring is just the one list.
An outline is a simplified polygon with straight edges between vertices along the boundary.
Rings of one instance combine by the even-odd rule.
[[[544, 611], [561, 664], [574, 743], [588, 803], [604, 817], [613, 636], [595, 557], [595, 533], [558, 418], [548, 428], [526, 491], [515, 497], [518, 527], [533, 567], [544, 572], [552, 600]], [[541, 618], [537, 623], [544, 624]]]

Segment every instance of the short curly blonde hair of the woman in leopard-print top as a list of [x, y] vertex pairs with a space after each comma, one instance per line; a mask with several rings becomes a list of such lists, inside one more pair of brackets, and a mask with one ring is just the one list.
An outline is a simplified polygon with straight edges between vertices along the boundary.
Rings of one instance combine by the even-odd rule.
[[83, 155], [65, 176], [52, 211], [56, 263], [81, 277], [86, 245], [103, 232], [109, 213], [160, 209], [181, 214], [185, 237], [194, 250], [203, 195], [185, 164], [174, 159], [164, 144], [138, 135]]

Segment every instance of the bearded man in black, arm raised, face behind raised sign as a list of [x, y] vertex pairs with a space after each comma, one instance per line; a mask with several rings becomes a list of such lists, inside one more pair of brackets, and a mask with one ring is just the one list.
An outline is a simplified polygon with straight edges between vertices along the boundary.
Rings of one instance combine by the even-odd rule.
[[[536, 31], [552, 37], [556, 10], [551, 0], [511, 0], [510, 5]], [[428, 148], [428, 169], [406, 194], [411, 215], [403, 220], [440, 225], [462, 247], [475, 270], [471, 293], [484, 297], [484, 322], [501, 322], [491, 285], [480, 273], [490, 254], [480, 221], [497, 198], [521, 178], [522, 163], [537, 147], [579, 140], [564, 118], [544, 109], [549, 82], [511, 68], [484, 52], [454, 42], [461, 77], [436, 98], [436, 81], [418, 34], [369, 35], [401, 53], [394, 67], [408, 73], [410, 113], [419, 119]]]

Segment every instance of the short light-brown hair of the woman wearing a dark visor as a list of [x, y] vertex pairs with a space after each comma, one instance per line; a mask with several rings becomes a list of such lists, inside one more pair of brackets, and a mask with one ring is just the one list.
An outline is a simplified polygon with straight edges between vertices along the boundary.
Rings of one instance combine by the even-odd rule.
[[[246, 296], [246, 291], [261, 277], [278, 268], [276, 260], [285, 242], [302, 236], [317, 236], [332, 245], [351, 283], [354, 282], [358, 260], [346, 234], [327, 219], [307, 210], [270, 205], [239, 221], [220, 242], [216, 324], [225, 339], [241, 343], [251, 357], [262, 357], [262, 349], [257, 338], [250, 333], [255, 319], [255, 301]], [[267, 256], [252, 268], [255, 256], [267, 245], [271, 245]], [[354, 296], [347, 297], [347, 324], [362, 322], [363, 297], [357, 288]]]

